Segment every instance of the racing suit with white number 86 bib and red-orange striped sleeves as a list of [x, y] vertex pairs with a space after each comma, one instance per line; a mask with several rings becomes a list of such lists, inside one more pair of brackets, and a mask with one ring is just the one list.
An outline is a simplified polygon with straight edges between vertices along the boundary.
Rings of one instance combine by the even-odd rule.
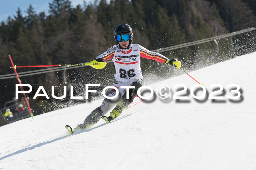
[[[133, 101], [133, 98], [137, 95], [138, 88], [144, 85], [142, 70], [140, 68], [140, 58], [152, 59], [160, 63], [165, 63], [165, 61], [168, 60], [165, 56], [149, 51], [139, 44], [131, 44], [129, 49], [120, 49], [119, 45], [114, 45], [103, 54], [97, 56], [96, 59], [98, 58], [102, 58], [104, 61], [110, 59], [113, 61], [116, 68], [116, 74], [114, 74], [116, 83], [114, 86], [118, 89], [119, 95], [115, 99], [105, 98], [101, 106], [87, 116], [84, 120], [86, 129], [89, 129], [93, 124], [97, 123], [99, 119], [101, 119], [101, 116], [105, 115], [118, 103], [126, 92], [125, 88], [120, 88], [121, 86], [135, 86], [136, 92], [131, 96], [131, 99], [129, 99], [129, 103]], [[107, 94], [109, 97], [115, 95], [116, 90], [114, 89], [110, 90]]]

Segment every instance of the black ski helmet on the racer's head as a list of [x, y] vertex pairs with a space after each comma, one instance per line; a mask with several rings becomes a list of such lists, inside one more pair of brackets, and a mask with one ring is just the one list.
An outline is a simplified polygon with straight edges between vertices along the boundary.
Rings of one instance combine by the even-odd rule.
[[[119, 24], [117, 25], [117, 27], [115, 28], [114, 31], [114, 37], [116, 39], [117, 35], [121, 35], [121, 34], [128, 34], [130, 35], [130, 39], [129, 39], [129, 45], [126, 49], [130, 48], [131, 44], [132, 44], [132, 39], [133, 39], [133, 31], [130, 25], [128, 24]], [[120, 46], [119, 42], [116, 39], [116, 44], [119, 45], [119, 48], [124, 49], [123, 47]]]

